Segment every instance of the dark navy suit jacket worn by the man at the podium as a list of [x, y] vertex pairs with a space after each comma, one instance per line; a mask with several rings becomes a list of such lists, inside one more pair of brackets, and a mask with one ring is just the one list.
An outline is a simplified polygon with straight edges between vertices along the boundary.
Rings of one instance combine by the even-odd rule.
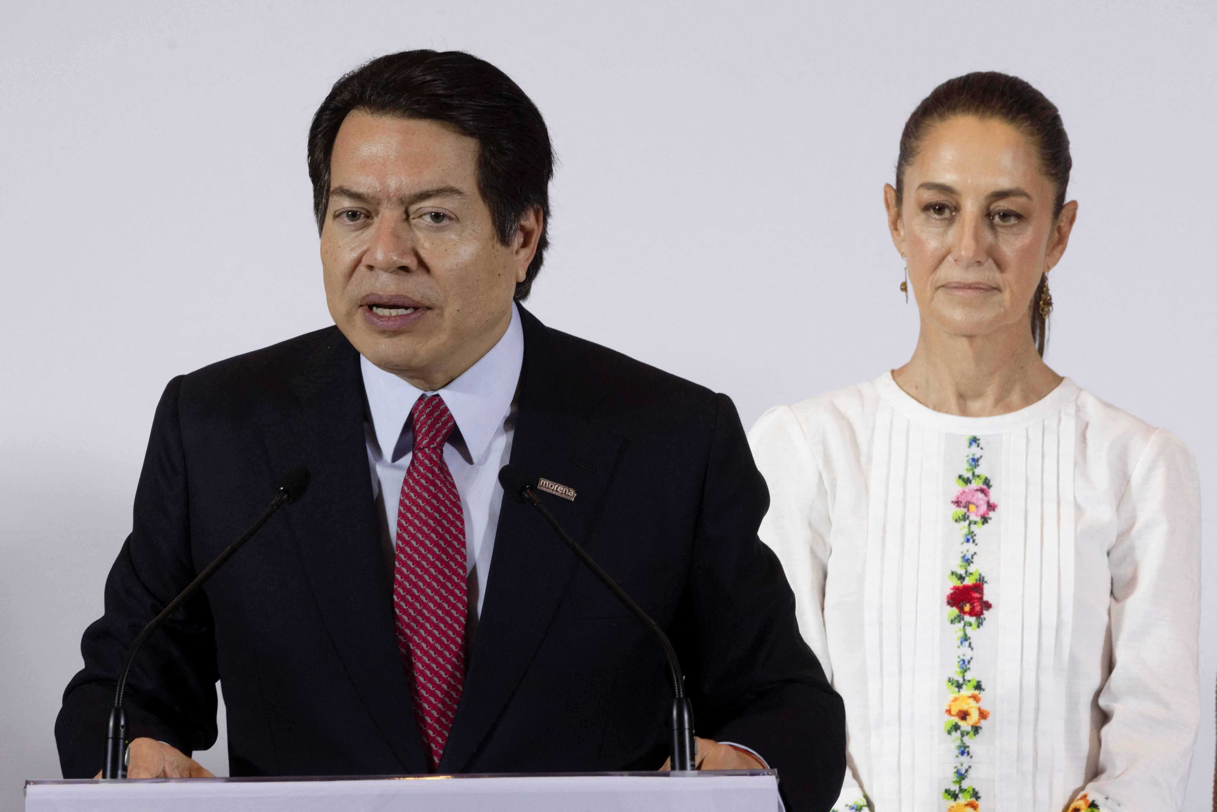
[[[511, 461], [667, 631], [699, 735], [779, 771], [787, 808], [829, 810], [845, 711], [757, 538], [768, 491], [729, 398], [545, 327], [521, 309]], [[135, 660], [131, 735], [185, 752], [228, 706], [234, 775], [427, 771], [393, 631], [364, 437], [359, 355], [337, 327], [169, 382], [133, 532], [84, 634], [56, 722], [66, 777], [100, 768], [122, 657], [142, 626], [251, 522], [277, 476], [313, 474]], [[482, 616], [439, 772], [654, 769], [671, 688], [656, 639], [531, 508], [501, 509]]]

